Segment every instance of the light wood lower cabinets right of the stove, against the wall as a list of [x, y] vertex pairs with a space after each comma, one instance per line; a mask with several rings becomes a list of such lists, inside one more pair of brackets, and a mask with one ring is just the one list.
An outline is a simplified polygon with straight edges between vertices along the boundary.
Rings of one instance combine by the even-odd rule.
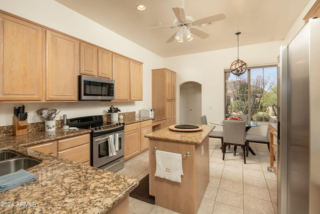
[[144, 135], [152, 132], [152, 120], [124, 126], [124, 160], [148, 149], [149, 139]]

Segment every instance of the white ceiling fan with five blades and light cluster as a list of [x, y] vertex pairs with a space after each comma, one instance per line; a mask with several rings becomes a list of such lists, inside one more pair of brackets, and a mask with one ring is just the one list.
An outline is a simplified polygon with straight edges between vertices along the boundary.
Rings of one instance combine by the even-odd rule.
[[[197, 29], [198, 27], [211, 25], [212, 22], [221, 21], [226, 18], [224, 13], [216, 14], [213, 16], [201, 18], [194, 20], [192, 17], [185, 16], [183, 8], [172, 8], [173, 13], [176, 17], [173, 21], [173, 26], [163, 26], [154, 27], [147, 29], [165, 29], [165, 28], [177, 28], [178, 30], [172, 34], [172, 36], [166, 41], [166, 43], [172, 42], [176, 39], [178, 42], [183, 42], [183, 36], [185, 36], [187, 41], [193, 39], [192, 34], [200, 37], [201, 39], [206, 39], [210, 35]], [[192, 33], [192, 34], [191, 34]]]

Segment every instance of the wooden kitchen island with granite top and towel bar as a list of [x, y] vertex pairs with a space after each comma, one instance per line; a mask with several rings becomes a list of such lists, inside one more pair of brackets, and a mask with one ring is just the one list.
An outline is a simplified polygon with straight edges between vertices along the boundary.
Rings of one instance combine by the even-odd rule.
[[[213, 125], [198, 125], [200, 131], [177, 132], [168, 127], [145, 135], [149, 138], [149, 194], [155, 204], [180, 213], [196, 213], [209, 182], [209, 136]], [[181, 183], [156, 177], [155, 151], [182, 157]]]

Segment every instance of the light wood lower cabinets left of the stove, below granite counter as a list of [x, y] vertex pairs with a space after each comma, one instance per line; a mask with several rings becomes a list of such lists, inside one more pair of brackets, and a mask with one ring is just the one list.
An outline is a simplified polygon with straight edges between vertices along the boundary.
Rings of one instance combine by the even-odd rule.
[[49, 141], [27, 148], [90, 165], [90, 134]]

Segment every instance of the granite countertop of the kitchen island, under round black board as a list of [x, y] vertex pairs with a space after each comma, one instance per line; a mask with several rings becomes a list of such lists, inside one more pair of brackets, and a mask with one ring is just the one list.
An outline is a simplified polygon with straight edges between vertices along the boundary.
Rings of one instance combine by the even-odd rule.
[[202, 126], [202, 130], [193, 132], [171, 131], [169, 127], [151, 132], [144, 137], [153, 140], [167, 140], [180, 143], [200, 144], [204, 138], [214, 129], [214, 125], [197, 125]]

